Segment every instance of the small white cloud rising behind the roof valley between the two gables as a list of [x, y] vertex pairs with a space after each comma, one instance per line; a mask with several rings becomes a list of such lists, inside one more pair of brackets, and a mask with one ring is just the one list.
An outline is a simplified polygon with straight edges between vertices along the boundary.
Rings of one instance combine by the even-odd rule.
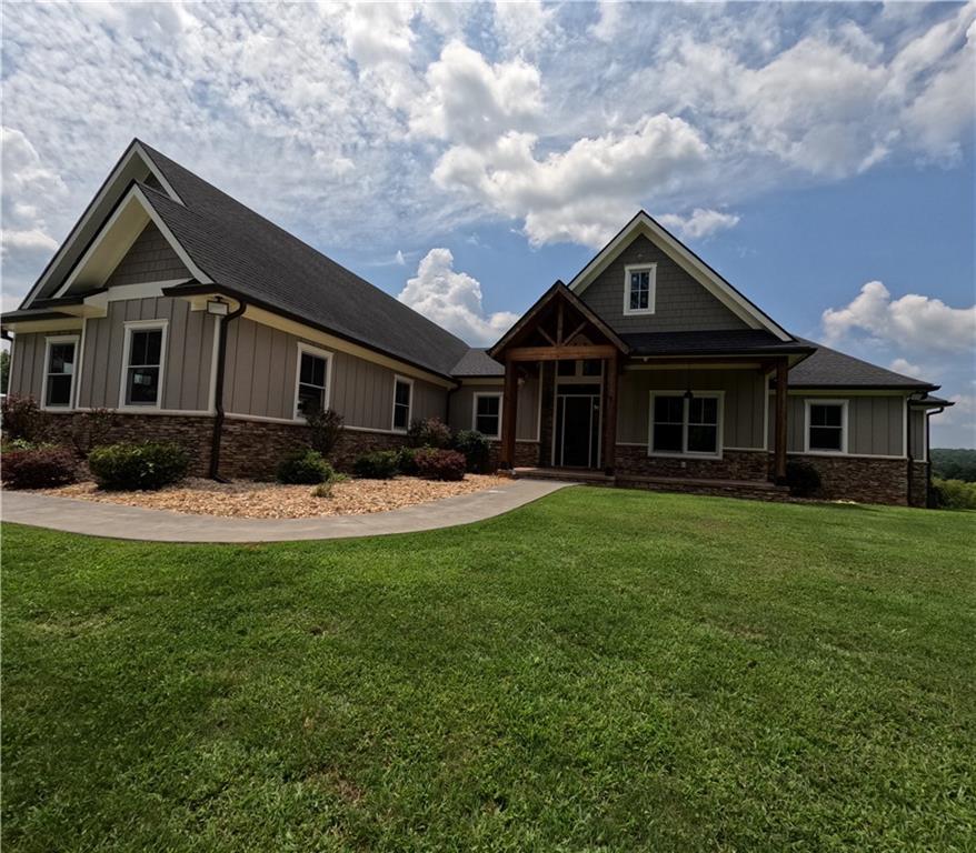
[[471, 344], [494, 343], [518, 319], [509, 311], [485, 313], [481, 284], [455, 271], [449, 249], [431, 249], [397, 299]]

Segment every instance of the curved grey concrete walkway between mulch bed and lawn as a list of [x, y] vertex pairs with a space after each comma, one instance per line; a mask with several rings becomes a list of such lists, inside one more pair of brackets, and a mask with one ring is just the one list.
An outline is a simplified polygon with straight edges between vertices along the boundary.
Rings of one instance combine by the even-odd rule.
[[0, 518], [17, 524], [49, 528], [66, 533], [150, 542], [293, 542], [308, 539], [381, 536], [388, 533], [414, 533], [470, 524], [524, 506], [567, 485], [571, 483], [515, 480], [498, 489], [445, 498], [401, 510], [320, 519], [185, 515], [169, 510], [145, 510], [118, 503], [3, 491], [0, 498]]

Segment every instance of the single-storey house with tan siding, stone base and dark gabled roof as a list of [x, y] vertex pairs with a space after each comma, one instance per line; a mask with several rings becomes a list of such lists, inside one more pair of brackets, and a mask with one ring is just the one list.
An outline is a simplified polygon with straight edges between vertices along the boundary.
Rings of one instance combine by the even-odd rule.
[[268, 475], [325, 407], [340, 464], [437, 417], [506, 469], [776, 494], [800, 458], [826, 496], [922, 505], [948, 404], [790, 334], [644, 212], [474, 349], [138, 140], [2, 330], [57, 430], [110, 409], [211, 475]]

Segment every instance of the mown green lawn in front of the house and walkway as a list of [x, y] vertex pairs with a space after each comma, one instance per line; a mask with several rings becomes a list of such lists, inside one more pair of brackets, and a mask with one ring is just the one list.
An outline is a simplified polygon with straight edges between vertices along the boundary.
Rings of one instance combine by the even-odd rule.
[[570, 489], [338, 543], [3, 532], [4, 853], [976, 843], [972, 514]]

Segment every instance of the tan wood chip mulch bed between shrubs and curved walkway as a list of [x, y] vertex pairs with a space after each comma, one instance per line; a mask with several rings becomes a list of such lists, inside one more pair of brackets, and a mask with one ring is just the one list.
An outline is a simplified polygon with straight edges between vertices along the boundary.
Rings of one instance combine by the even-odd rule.
[[236, 519], [311, 519], [321, 515], [361, 515], [385, 512], [458, 494], [495, 489], [511, 481], [488, 474], [467, 474], [460, 482], [434, 482], [415, 476], [394, 480], [345, 480], [332, 485], [329, 498], [312, 495], [311, 485], [281, 485], [240, 480], [215, 483], [188, 479], [158, 492], [102, 492], [82, 482], [59, 489], [38, 489], [37, 494], [123, 503], [150, 510], [172, 510], [193, 515]]

